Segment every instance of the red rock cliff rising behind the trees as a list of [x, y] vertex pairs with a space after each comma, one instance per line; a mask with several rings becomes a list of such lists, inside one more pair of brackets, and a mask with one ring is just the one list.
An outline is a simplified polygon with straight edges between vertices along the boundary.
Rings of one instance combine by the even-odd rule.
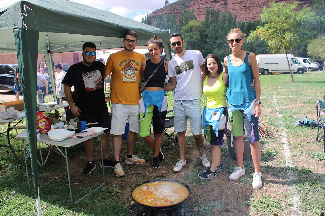
[[[268, 7], [271, 0], [178, 0], [158, 10], [153, 11], [150, 17], [155, 20], [157, 14], [166, 16], [168, 13], [174, 13], [176, 17], [184, 10], [194, 9], [194, 14], [198, 20], [204, 20], [207, 7], [219, 8], [220, 13], [231, 12], [237, 15], [237, 21], [256, 20], [262, 13], [262, 7]], [[312, 0], [299, 0], [299, 5], [312, 6]], [[275, 2], [291, 3], [293, 0], [276, 0]]]

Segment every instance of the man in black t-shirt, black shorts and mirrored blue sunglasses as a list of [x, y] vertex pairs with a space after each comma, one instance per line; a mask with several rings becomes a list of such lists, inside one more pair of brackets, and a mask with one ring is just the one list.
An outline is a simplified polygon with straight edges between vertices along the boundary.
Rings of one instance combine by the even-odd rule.
[[[64, 76], [65, 97], [70, 105], [72, 114], [78, 116], [81, 121], [87, 123], [98, 122], [90, 125], [108, 128], [101, 135], [103, 145], [104, 164], [100, 167], [114, 167], [114, 161], [108, 158], [108, 138], [110, 135], [110, 117], [104, 96], [103, 71], [105, 65], [96, 60], [96, 45], [92, 42], [85, 42], [82, 56], [84, 60], [73, 64]], [[78, 92], [78, 101], [73, 103], [71, 87]], [[87, 164], [82, 172], [84, 176], [89, 175], [96, 169], [93, 160], [94, 143], [93, 139], [84, 142], [87, 156]]]

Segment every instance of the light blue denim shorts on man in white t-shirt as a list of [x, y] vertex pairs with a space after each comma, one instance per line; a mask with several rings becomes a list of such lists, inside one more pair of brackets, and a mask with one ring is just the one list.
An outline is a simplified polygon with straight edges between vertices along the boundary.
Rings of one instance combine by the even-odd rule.
[[174, 130], [182, 132], [187, 130], [187, 119], [191, 127], [191, 133], [202, 133], [201, 99], [174, 100]]

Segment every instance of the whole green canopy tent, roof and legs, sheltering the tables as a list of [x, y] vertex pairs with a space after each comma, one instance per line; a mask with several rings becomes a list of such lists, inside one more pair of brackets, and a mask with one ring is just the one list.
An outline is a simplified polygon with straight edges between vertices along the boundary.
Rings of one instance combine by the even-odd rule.
[[[44, 54], [52, 86], [55, 86], [53, 53], [81, 51], [86, 41], [97, 49], [123, 47], [126, 30], [138, 33], [138, 46], [153, 35], [162, 39], [167, 59], [171, 58], [169, 32], [108, 11], [69, 0], [10, 1], [0, 6], [0, 52], [17, 53], [30, 144], [38, 214], [39, 193], [36, 155], [36, 70], [37, 54]], [[55, 90], [52, 91], [55, 95]]]

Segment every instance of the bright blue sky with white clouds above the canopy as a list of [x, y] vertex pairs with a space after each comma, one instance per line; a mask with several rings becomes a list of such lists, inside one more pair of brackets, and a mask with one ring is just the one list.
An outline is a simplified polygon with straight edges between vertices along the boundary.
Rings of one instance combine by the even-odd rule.
[[[107, 10], [111, 13], [141, 22], [148, 13], [162, 8], [165, 0], [71, 0], [80, 4]], [[169, 4], [177, 0], [169, 0]], [[0, 6], [12, 0], [0, 0]]]

